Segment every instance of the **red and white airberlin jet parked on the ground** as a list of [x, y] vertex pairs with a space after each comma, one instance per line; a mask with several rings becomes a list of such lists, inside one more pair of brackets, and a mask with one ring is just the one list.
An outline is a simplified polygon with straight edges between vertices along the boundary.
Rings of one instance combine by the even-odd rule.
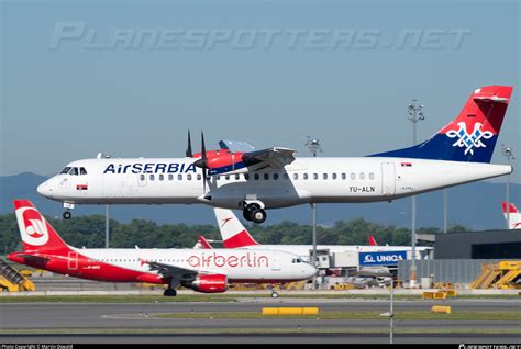
[[78, 249], [62, 240], [27, 200], [15, 200], [23, 252], [16, 263], [80, 279], [167, 284], [166, 296], [182, 285], [203, 293], [225, 292], [229, 282], [281, 283], [306, 280], [315, 269], [293, 254], [242, 249]]

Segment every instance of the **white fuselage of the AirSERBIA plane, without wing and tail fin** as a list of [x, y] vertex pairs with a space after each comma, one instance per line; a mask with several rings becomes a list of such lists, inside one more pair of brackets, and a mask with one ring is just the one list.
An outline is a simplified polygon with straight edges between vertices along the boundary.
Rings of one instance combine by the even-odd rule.
[[241, 210], [302, 203], [391, 201], [508, 174], [511, 166], [425, 159], [298, 158], [282, 170], [211, 176], [203, 192], [193, 158], [99, 158], [70, 162], [86, 174], [57, 174], [38, 187], [46, 198], [78, 204], [195, 204]]

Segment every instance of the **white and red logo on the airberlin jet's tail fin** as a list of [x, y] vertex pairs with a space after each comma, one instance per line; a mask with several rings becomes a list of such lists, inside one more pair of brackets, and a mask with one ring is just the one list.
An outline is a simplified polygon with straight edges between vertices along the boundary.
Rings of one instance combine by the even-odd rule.
[[16, 210], [20, 234], [25, 244], [42, 246], [48, 241], [47, 222], [34, 207]]

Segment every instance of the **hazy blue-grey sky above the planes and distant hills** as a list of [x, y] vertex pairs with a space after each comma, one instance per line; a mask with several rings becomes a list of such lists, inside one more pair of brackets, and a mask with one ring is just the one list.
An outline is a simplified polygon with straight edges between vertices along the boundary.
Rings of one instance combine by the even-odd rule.
[[362, 156], [411, 143], [412, 98], [421, 140], [485, 85], [514, 87], [492, 161], [521, 159], [518, 1], [1, 1], [1, 31], [3, 176], [182, 156], [188, 127]]

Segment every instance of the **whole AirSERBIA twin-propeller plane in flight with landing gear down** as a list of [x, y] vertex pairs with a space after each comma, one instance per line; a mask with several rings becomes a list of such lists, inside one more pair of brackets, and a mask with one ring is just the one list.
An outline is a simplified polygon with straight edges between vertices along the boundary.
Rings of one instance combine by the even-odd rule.
[[303, 203], [392, 201], [512, 172], [491, 165], [512, 88], [476, 89], [461, 113], [430, 139], [366, 157], [295, 158], [292, 149], [254, 150], [220, 142], [221, 149], [185, 158], [96, 158], [68, 164], [37, 191], [75, 204], [195, 204], [242, 210], [266, 219], [266, 209]]

